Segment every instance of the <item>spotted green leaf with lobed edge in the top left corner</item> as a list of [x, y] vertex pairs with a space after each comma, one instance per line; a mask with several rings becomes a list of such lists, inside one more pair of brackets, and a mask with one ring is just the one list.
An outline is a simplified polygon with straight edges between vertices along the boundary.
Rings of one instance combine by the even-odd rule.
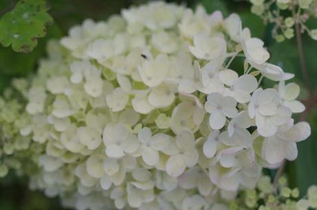
[[28, 53], [37, 46], [37, 38], [45, 36], [46, 25], [52, 21], [45, 1], [21, 0], [0, 19], [0, 43]]

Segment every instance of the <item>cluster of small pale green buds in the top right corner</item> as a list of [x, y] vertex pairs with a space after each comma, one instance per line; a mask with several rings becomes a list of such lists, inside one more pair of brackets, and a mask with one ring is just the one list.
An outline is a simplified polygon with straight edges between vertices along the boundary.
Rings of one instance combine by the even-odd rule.
[[317, 29], [306, 25], [309, 17], [317, 16], [316, 0], [250, 0], [251, 12], [260, 16], [265, 23], [274, 23], [272, 36], [283, 42], [294, 36], [294, 27], [298, 25], [301, 33], [307, 32], [317, 40]]

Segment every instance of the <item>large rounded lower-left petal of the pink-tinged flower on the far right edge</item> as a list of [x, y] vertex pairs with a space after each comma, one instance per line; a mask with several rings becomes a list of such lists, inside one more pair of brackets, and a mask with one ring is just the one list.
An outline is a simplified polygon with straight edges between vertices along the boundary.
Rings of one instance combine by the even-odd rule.
[[287, 155], [287, 142], [276, 137], [267, 138], [263, 142], [262, 156], [269, 164], [280, 163]]

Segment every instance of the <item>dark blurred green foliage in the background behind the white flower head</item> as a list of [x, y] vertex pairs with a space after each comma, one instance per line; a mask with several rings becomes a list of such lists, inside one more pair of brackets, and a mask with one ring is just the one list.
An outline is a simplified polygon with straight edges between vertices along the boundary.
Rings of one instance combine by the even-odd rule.
[[[37, 47], [29, 54], [21, 54], [12, 50], [11, 47], [0, 46], [0, 91], [3, 91], [10, 80], [14, 77], [27, 76], [37, 67], [39, 58], [45, 56], [45, 43], [50, 38], [60, 38], [67, 34], [72, 25], [80, 24], [83, 19], [91, 18], [95, 21], [104, 20], [111, 14], [117, 14], [122, 8], [130, 5], [145, 3], [147, 0], [50, 0], [49, 13], [54, 19], [54, 24], [48, 26], [47, 35], [39, 39]], [[296, 40], [287, 40], [283, 43], [276, 43], [271, 36], [272, 25], [264, 25], [258, 16], [249, 12], [250, 5], [243, 0], [174, 0], [171, 2], [184, 3], [194, 8], [197, 4], [205, 6], [208, 12], [221, 10], [224, 16], [232, 12], [241, 15], [243, 26], [249, 27], [252, 36], [265, 40], [265, 45], [271, 53], [270, 62], [280, 65], [287, 72], [296, 74], [294, 82], [301, 84], [301, 99], [307, 97], [307, 90], [303, 86], [300, 63]], [[13, 0], [0, 0], [0, 17], [14, 7]], [[311, 27], [317, 28], [317, 19], [308, 23]], [[311, 84], [316, 92], [317, 82], [317, 59], [315, 58], [317, 41], [303, 36], [303, 44], [307, 69]], [[236, 59], [232, 65], [235, 69], [243, 69], [243, 59]], [[271, 85], [264, 80], [264, 85]], [[299, 117], [299, 116], [297, 116]], [[298, 159], [287, 163], [287, 175], [292, 187], [298, 186], [301, 192], [307, 187], [317, 184], [317, 108], [310, 110], [307, 119], [311, 124], [312, 135], [307, 141], [298, 143]], [[274, 174], [271, 172], [270, 174]], [[14, 174], [5, 179], [0, 179], [0, 210], [58, 210], [57, 198], [45, 198], [40, 192], [28, 190], [25, 178], [17, 177]]]

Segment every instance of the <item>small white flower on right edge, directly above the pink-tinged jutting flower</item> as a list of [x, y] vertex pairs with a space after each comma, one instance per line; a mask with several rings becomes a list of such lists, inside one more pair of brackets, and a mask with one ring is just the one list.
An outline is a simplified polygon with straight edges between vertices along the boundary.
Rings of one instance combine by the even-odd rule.
[[292, 82], [285, 85], [284, 81], [278, 83], [278, 93], [282, 104], [292, 110], [292, 113], [302, 113], [305, 110], [304, 104], [296, 100], [300, 92], [298, 84]]

